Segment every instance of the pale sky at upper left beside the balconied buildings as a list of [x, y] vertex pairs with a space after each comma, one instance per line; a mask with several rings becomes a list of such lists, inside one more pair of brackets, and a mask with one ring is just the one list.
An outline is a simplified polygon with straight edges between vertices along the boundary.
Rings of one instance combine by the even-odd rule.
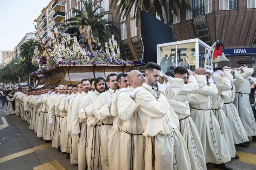
[[49, 0], [0, 0], [0, 51], [13, 51]]

